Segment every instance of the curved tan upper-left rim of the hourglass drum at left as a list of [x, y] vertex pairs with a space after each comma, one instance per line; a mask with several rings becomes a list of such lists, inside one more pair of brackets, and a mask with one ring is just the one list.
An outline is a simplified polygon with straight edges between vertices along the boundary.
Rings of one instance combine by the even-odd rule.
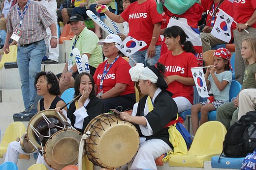
[[[47, 113], [45, 113], [45, 112], [47, 112]], [[48, 113], [48, 112], [49, 112], [49, 113]], [[40, 144], [38, 144], [38, 143], [36, 142], [35, 134], [34, 134], [32, 128], [30, 127], [30, 125], [32, 125], [34, 128], [36, 128], [36, 127], [34, 126], [35, 123], [37, 123], [37, 124], [36, 124], [36, 126], [37, 126], [38, 123], [39, 123], [41, 120], [43, 120], [43, 117], [42, 117], [41, 113], [43, 113], [47, 118], [56, 118], [56, 119], [58, 119], [59, 121], [62, 122], [61, 117], [59, 116], [59, 114], [58, 114], [54, 109], [45, 109], [45, 110], [42, 110], [42, 111], [36, 113], [36, 114], [31, 118], [31, 120], [30, 120], [30, 122], [29, 122], [29, 124], [28, 124], [28, 127], [27, 127], [27, 138], [31, 141], [32, 144], [34, 144], [36, 147], [38, 147], [38, 149], [42, 149], [42, 147], [41, 147]], [[55, 113], [55, 114], [51, 114], [51, 113]], [[66, 117], [65, 117], [62, 113], [60, 113], [60, 114], [62, 115], [62, 117], [64, 118], [64, 120], [67, 121]], [[49, 116], [51, 116], [51, 115], [54, 116], [54, 117], [49, 117]], [[36, 119], [36, 118], [37, 118], [37, 119]], [[39, 118], [41, 118], [41, 119], [39, 120]], [[36, 120], [35, 120], [35, 119], [36, 119]], [[33, 134], [33, 135], [32, 135], [32, 134]], [[30, 136], [30, 135], [31, 135], [31, 136]]]

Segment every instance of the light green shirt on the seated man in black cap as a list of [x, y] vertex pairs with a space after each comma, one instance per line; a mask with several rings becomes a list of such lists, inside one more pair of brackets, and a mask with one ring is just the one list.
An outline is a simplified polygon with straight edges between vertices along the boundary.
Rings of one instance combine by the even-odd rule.
[[[72, 49], [72, 45], [73, 45], [75, 39], [76, 39], [76, 35], [71, 40], [70, 49]], [[98, 65], [103, 62], [102, 48], [101, 48], [101, 46], [99, 46], [97, 44], [98, 41], [99, 40], [98, 40], [98, 37], [96, 36], [96, 34], [93, 31], [87, 29], [87, 27], [85, 27], [82, 30], [82, 32], [78, 35], [78, 39], [77, 39], [77, 42], [75, 45], [75, 48], [79, 49], [81, 56], [83, 55], [83, 53], [91, 54], [91, 56], [89, 58], [89, 65], [94, 68], [97, 68]], [[70, 53], [71, 53], [71, 51], [70, 51]], [[70, 53], [69, 53], [68, 58], [70, 58]], [[72, 57], [72, 63], [73, 63], [73, 65], [75, 65], [75, 56], [74, 55]]]

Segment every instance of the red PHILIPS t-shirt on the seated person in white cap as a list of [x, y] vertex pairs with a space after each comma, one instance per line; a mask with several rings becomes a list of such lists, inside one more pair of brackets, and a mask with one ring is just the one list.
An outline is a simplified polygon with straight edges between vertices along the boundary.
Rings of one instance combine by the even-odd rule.
[[[104, 61], [100, 65], [98, 65], [95, 74], [94, 74], [94, 81], [96, 85], [98, 86], [98, 93], [100, 88], [100, 79], [102, 77], [104, 67], [106, 65], [107, 61]], [[107, 68], [110, 66], [110, 64], [107, 64]], [[103, 79], [103, 94], [115, 87], [117, 83], [123, 83], [127, 84], [126, 90], [120, 94], [120, 96], [128, 95], [131, 93], [134, 93], [134, 82], [131, 81], [130, 74], [129, 74], [130, 65], [129, 63], [123, 59], [122, 57], [119, 57], [116, 62], [111, 66], [108, 73], [105, 75]]]

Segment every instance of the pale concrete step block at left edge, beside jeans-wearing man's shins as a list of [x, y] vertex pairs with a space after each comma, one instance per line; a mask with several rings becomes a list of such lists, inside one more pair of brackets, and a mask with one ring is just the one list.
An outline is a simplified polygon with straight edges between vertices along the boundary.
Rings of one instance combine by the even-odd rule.
[[1, 89], [0, 102], [23, 102], [21, 89]]

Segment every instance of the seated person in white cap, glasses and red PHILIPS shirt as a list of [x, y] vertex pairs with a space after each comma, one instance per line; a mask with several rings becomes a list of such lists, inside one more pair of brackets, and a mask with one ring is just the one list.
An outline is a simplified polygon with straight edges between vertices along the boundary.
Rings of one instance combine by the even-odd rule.
[[119, 56], [119, 50], [115, 47], [121, 43], [121, 38], [114, 34], [98, 42], [107, 60], [97, 67], [94, 74], [95, 91], [105, 105], [105, 112], [117, 107], [121, 107], [118, 109], [121, 111], [132, 109], [135, 103], [134, 84], [127, 76], [130, 66]]

